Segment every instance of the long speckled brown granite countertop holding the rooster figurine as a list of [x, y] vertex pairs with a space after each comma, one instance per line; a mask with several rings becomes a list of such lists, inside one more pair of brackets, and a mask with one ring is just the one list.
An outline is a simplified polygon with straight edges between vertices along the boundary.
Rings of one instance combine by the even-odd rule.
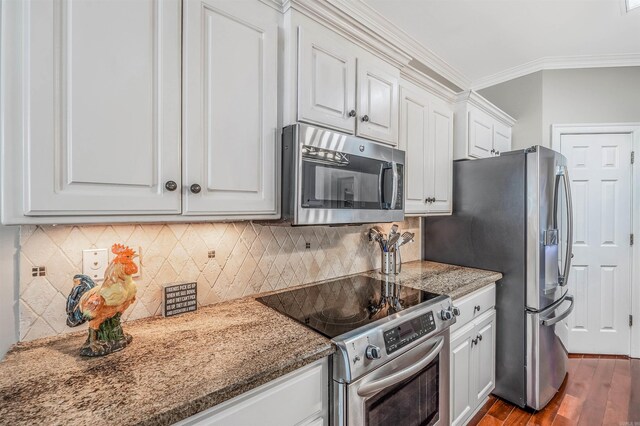
[[333, 353], [325, 337], [241, 299], [126, 323], [102, 358], [85, 333], [18, 344], [0, 362], [0, 424], [166, 425]]

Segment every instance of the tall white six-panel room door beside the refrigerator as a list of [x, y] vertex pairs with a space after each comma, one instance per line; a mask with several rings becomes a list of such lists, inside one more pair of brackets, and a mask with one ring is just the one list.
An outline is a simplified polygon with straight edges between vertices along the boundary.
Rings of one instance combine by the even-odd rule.
[[574, 209], [569, 350], [629, 354], [630, 134], [564, 134]]

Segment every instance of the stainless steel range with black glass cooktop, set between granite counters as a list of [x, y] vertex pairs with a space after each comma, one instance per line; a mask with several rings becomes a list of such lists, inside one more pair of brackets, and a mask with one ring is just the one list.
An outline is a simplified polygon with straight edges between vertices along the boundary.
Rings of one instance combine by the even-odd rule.
[[258, 300], [338, 348], [333, 425], [449, 423], [449, 297], [357, 275]]

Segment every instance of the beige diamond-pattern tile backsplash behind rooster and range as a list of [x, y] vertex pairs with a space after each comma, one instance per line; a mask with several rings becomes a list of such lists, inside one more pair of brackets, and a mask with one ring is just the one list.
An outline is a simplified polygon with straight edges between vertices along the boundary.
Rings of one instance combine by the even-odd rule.
[[[416, 234], [415, 243], [402, 248], [403, 261], [420, 259], [419, 219], [398, 225]], [[388, 231], [391, 224], [381, 226]], [[376, 269], [380, 250], [368, 241], [369, 228], [253, 222], [22, 226], [20, 339], [81, 329], [67, 327], [65, 305], [73, 276], [82, 273], [85, 249], [110, 248], [117, 242], [140, 251], [137, 300], [124, 315], [131, 320], [161, 315], [164, 283], [196, 281], [198, 304], [203, 306]], [[34, 277], [33, 267], [45, 267], [44, 276]]]

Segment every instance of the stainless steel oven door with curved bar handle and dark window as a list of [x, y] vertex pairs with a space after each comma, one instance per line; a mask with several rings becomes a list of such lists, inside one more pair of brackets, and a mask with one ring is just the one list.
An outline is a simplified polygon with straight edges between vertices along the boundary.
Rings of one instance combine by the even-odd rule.
[[441, 333], [347, 386], [349, 426], [446, 425], [449, 333]]

